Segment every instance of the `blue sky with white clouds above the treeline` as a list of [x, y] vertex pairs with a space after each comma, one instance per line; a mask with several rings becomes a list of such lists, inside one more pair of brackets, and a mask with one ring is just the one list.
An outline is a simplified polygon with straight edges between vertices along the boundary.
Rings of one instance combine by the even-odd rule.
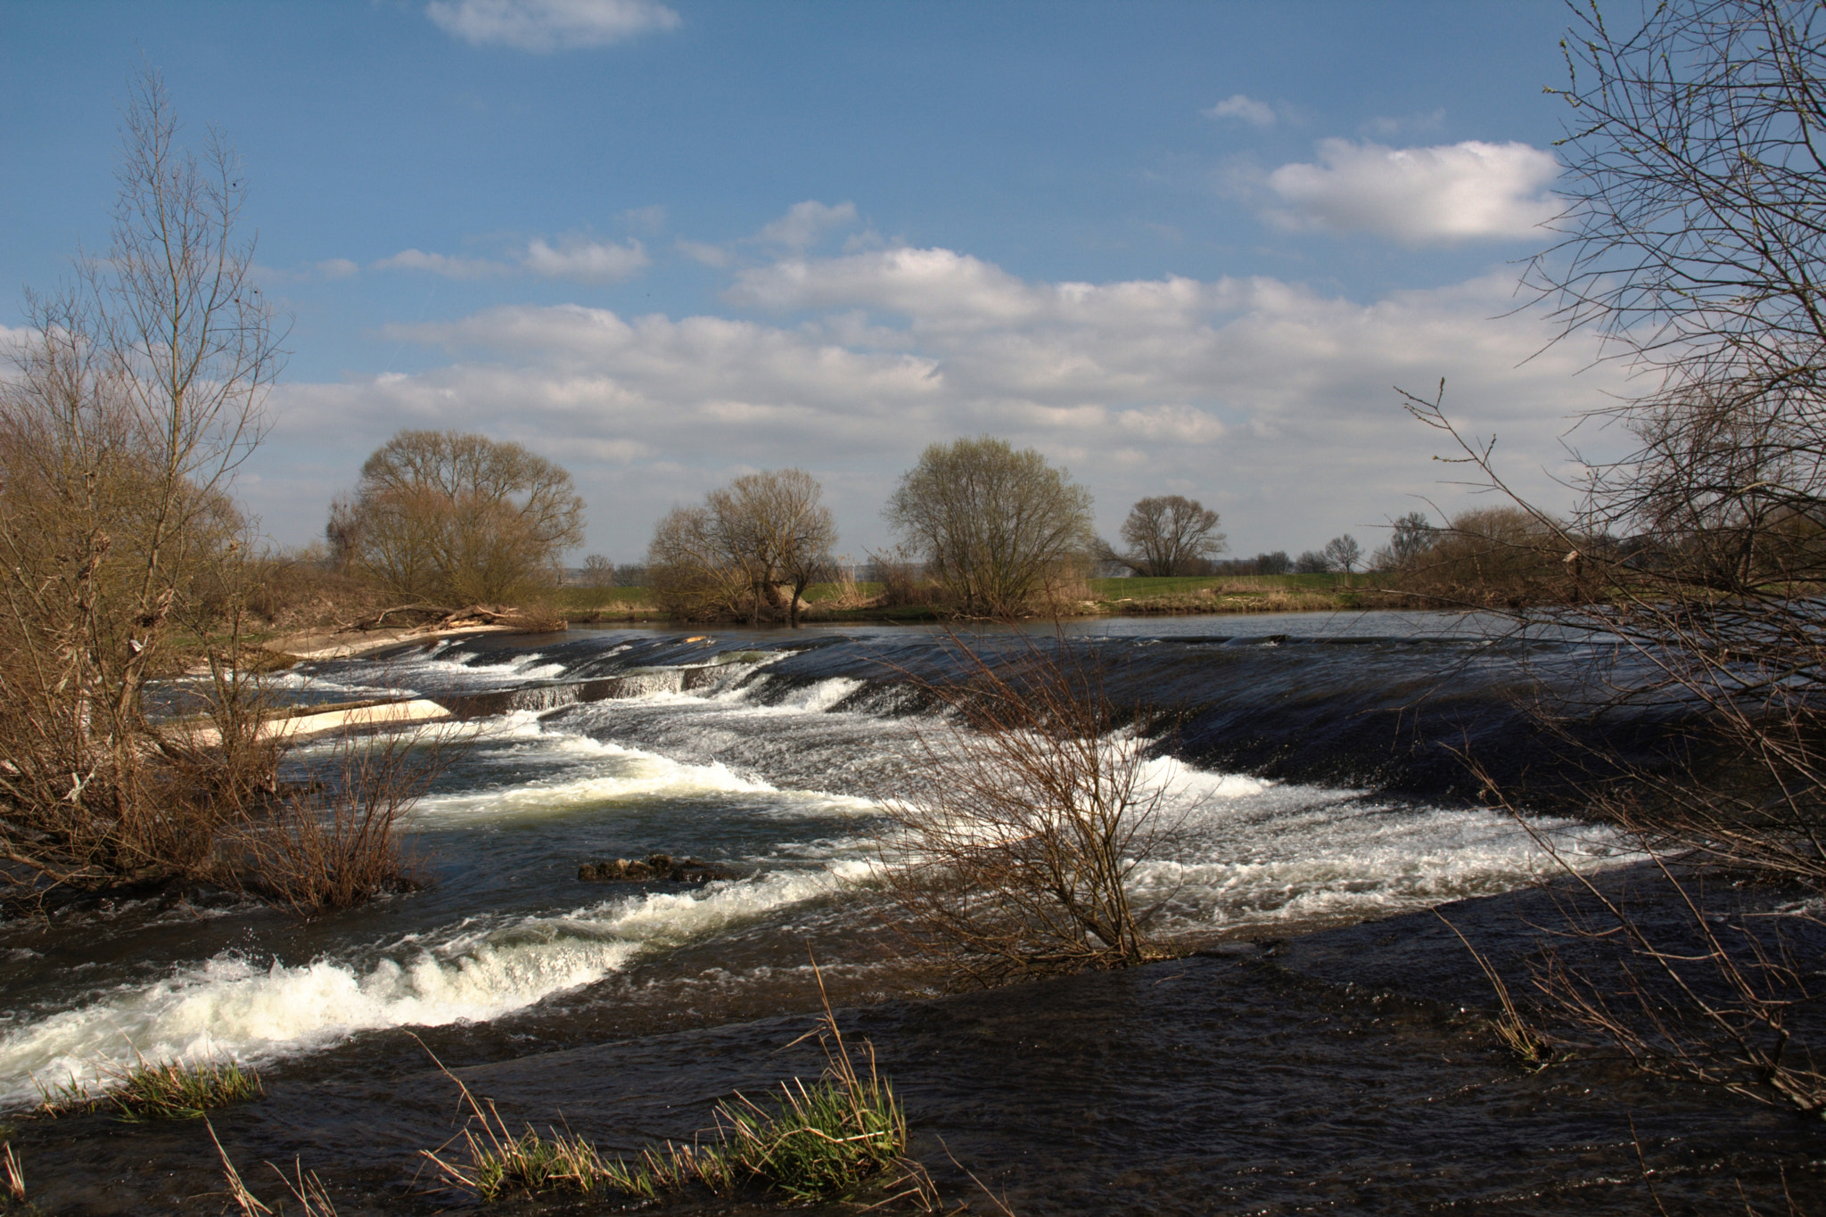
[[[0, 327], [108, 243], [119, 104], [245, 162], [289, 325], [236, 484], [281, 546], [402, 427], [564, 465], [635, 562], [756, 469], [840, 549], [929, 443], [1187, 494], [1231, 551], [1488, 505], [1395, 387], [1570, 504], [1627, 390], [1517, 290], [1561, 210], [1567, 9], [1503, 4], [0, 0]], [[0, 339], [7, 338], [0, 334]]]

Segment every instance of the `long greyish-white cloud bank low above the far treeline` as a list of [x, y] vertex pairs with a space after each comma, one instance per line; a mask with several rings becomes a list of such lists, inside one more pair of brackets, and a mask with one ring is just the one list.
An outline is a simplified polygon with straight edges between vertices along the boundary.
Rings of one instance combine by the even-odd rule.
[[396, 427], [520, 440], [577, 474], [592, 547], [632, 556], [670, 504], [774, 465], [825, 482], [845, 547], [882, 544], [882, 500], [920, 447], [993, 432], [1070, 465], [1107, 533], [1136, 498], [1185, 493], [1238, 547], [1306, 549], [1455, 493], [1390, 385], [1444, 376], [1468, 431], [1501, 432], [1517, 482], [1556, 502], [1558, 434], [1618, 385], [1574, 378], [1578, 343], [1530, 359], [1545, 332], [1501, 316], [1512, 286], [1497, 272], [1353, 301], [1267, 277], [1028, 281], [944, 248], [787, 257], [736, 276], [750, 316], [511, 305], [389, 327], [444, 363], [289, 385], [279, 438], [289, 460], [349, 449], [323, 502]]

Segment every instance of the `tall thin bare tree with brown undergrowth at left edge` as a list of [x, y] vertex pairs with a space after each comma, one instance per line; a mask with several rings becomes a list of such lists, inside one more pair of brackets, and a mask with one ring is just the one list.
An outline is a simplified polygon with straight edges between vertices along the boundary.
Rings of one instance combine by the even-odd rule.
[[[239, 161], [181, 150], [163, 80], [131, 82], [106, 257], [27, 297], [0, 381], [0, 883], [104, 887], [210, 865], [270, 774], [239, 671], [228, 498], [283, 363], [236, 235]], [[208, 648], [217, 743], [155, 730], [146, 682]]]

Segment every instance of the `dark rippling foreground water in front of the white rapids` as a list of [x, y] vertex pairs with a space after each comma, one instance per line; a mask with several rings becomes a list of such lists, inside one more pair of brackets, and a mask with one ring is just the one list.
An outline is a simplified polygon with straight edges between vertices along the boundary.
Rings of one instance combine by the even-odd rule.
[[[1519, 980], [1532, 943], [1525, 921], [1550, 918], [1554, 905], [1534, 890], [1443, 910]], [[805, 1004], [718, 1022], [687, 1009], [670, 1027], [584, 1045], [542, 1047], [484, 1027], [427, 1040], [509, 1128], [568, 1128], [626, 1153], [690, 1140], [732, 1091], [816, 1075], [816, 1045], [792, 1045], [813, 1013]], [[1645, 1078], [1600, 1055], [1530, 1071], [1492, 1035], [1492, 1013], [1464, 947], [1422, 910], [1220, 943], [1127, 973], [886, 1000], [842, 1009], [840, 1024], [893, 1078], [915, 1155], [951, 1202], [973, 1201], [975, 1212], [990, 1210], [966, 1170], [1023, 1217], [1636, 1215], [1654, 1212], [1643, 1170], [1667, 1212], [1746, 1201], [1753, 1212], [1817, 1212], [1819, 1120]], [[265, 1098], [215, 1113], [214, 1129], [268, 1199], [278, 1184], [257, 1164], [290, 1170], [301, 1159], [341, 1217], [473, 1208], [420, 1170], [420, 1149], [456, 1131], [451, 1080], [411, 1045], [367, 1062], [360, 1073], [334, 1060], [274, 1067]], [[13, 1142], [46, 1212], [217, 1204], [206, 1193], [221, 1190], [219, 1164], [201, 1122], [27, 1120]], [[58, 1177], [46, 1162], [84, 1170]], [[619, 1204], [555, 1193], [489, 1212]], [[641, 1212], [774, 1210], [683, 1201]]]

